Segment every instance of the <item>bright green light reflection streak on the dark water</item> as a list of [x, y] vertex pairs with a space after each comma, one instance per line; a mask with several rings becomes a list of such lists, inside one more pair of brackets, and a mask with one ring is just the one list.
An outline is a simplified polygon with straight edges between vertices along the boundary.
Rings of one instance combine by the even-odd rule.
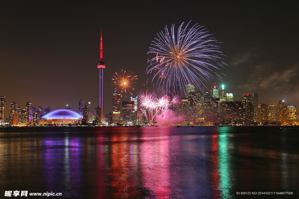
[[[219, 129], [220, 130], [220, 129]], [[228, 152], [228, 129], [225, 127], [221, 128], [221, 133], [219, 134], [219, 190], [221, 192], [221, 198], [233, 198], [231, 195], [231, 169], [230, 169], [230, 155]]]

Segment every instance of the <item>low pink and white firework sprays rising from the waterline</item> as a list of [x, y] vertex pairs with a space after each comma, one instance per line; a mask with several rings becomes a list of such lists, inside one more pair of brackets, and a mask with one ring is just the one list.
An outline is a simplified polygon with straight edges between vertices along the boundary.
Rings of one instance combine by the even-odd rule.
[[142, 93], [138, 95], [140, 106], [146, 116], [149, 124], [152, 125], [157, 115], [161, 116], [164, 112], [172, 107], [179, 106], [179, 97], [175, 96], [171, 100], [167, 95], [157, 98], [154, 93]]

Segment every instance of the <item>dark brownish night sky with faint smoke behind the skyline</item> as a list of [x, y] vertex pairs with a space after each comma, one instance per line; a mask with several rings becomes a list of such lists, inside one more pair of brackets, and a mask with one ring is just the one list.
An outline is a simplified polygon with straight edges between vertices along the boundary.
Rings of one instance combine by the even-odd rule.
[[[77, 1], [76, 1], [77, 2]], [[225, 1], [2, 1], [0, 7], [0, 95], [52, 110], [80, 98], [98, 105], [100, 31], [103, 30], [104, 111], [112, 112], [112, 75], [138, 75], [138, 92], [149, 75], [151, 41], [165, 26], [205, 26], [222, 44], [228, 67], [214, 82], [235, 101], [258, 92], [260, 102], [299, 105], [298, 14], [292, 4]], [[133, 93], [137, 95], [138, 93]], [[127, 98], [123, 98], [123, 101]]]

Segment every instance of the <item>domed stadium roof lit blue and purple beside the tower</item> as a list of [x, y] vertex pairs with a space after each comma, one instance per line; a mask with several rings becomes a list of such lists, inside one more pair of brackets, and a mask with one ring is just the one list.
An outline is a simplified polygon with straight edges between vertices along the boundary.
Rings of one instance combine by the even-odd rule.
[[82, 119], [83, 116], [69, 109], [56, 109], [42, 116], [44, 119]]

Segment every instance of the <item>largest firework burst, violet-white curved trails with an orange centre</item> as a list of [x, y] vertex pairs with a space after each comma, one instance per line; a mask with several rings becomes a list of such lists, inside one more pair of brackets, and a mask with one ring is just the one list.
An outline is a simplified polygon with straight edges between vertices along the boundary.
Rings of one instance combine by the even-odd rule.
[[153, 53], [154, 58], [150, 59], [147, 67], [147, 74], [154, 73], [158, 78], [157, 87], [168, 90], [170, 86], [179, 84], [181, 91], [186, 93], [185, 86], [194, 83], [200, 89], [203, 82], [210, 81], [214, 77], [220, 78], [217, 73], [219, 67], [226, 64], [219, 56], [219, 46], [216, 39], [210, 38], [211, 34], [204, 27], [198, 24], [191, 28], [179, 26], [177, 34], [174, 24], [171, 32], [165, 27], [165, 32], [160, 32], [158, 38], [152, 41], [148, 54]]

